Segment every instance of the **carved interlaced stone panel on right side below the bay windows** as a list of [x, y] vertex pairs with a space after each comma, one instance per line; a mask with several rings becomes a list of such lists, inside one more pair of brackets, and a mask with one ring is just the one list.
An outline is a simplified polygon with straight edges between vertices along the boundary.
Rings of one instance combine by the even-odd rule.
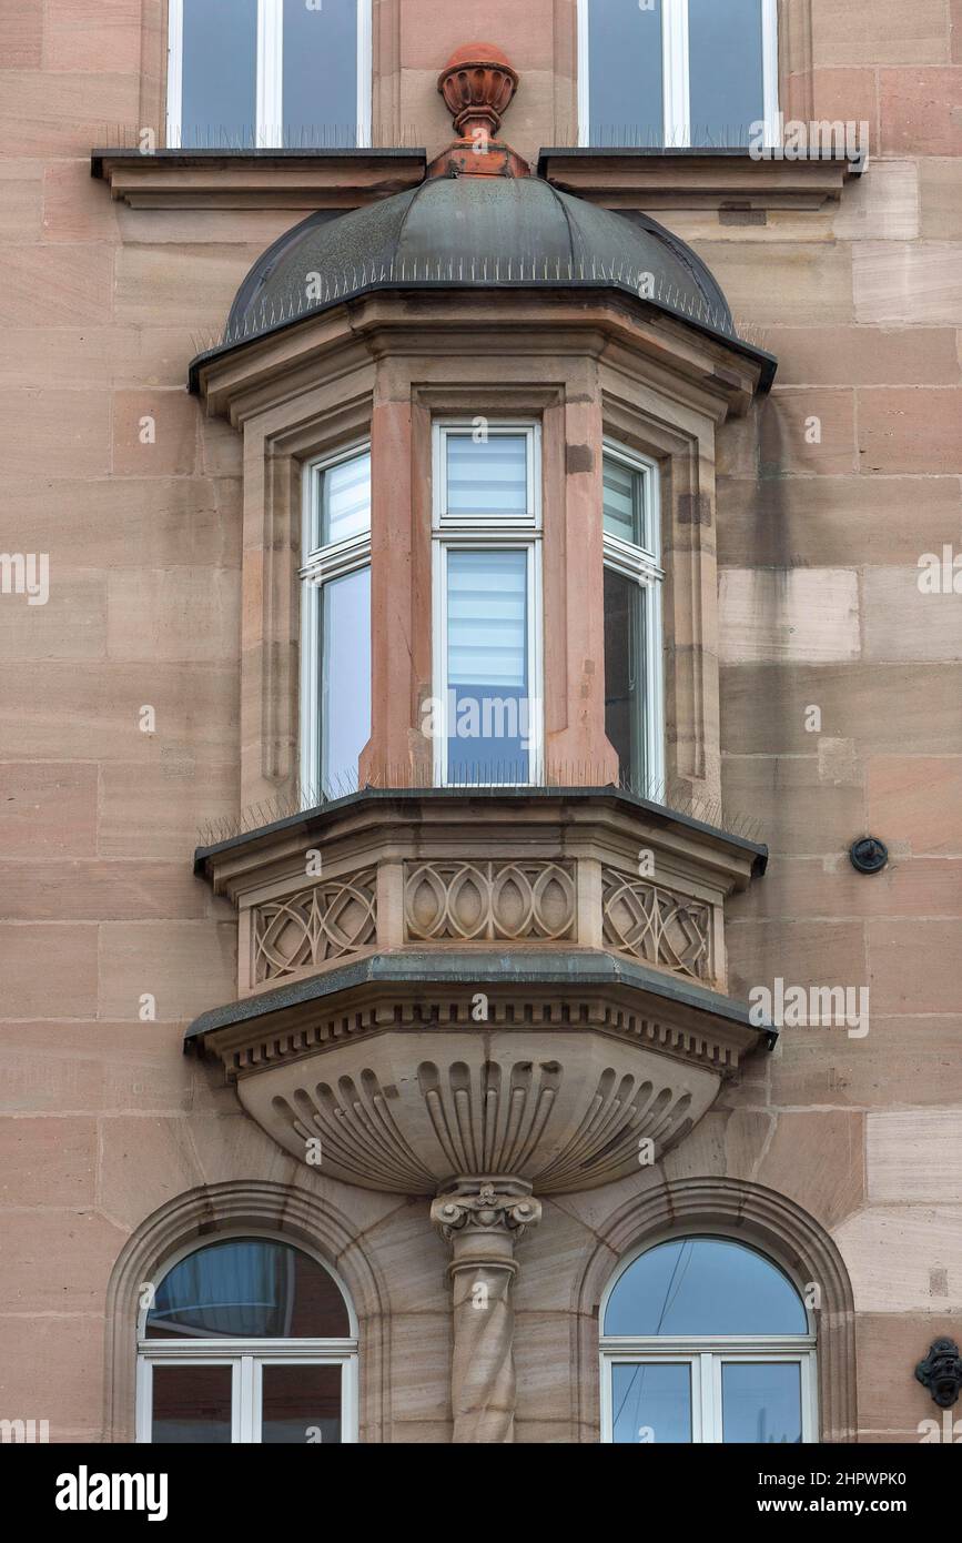
[[601, 872], [604, 941], [648, 964], [709, 980], [712, 975], [712, 907], [660, 884]]

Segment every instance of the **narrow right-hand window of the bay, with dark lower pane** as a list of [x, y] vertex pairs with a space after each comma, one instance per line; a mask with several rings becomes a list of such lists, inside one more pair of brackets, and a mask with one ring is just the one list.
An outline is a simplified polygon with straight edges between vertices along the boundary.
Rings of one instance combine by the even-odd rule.
[[606, 443], [604, 733], [620, 781], [664, 796], [661, 716], [661, 580], [658, 468]]

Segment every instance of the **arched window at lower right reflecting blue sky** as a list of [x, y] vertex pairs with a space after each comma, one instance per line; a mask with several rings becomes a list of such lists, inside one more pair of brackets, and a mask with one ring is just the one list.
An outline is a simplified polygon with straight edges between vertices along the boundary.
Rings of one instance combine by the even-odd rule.
[[638, 1254], [601, 1302], [601, 1440], [817, 1440], [816, 1336], [788, 1276], [729, 1237]]

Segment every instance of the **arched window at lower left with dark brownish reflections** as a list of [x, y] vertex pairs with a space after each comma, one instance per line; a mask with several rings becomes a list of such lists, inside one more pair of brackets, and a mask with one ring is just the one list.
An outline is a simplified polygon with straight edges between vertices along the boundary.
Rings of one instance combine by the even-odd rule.
[[356, 1441], [356, 1325], [331, 1273], [301, 1248], [231, 1237], [143, 1287], [137, 1440]]

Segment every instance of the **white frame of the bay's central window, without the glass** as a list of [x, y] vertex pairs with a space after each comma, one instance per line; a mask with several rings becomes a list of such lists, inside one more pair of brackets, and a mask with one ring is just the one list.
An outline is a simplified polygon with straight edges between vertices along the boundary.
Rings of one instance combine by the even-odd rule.
[[[452, 515], [447, 512], [447, 443], [452, 435], [473, 434], [473, 418], [444, 418], [432, 430], [432, 656], [433, 696], [439, 705], [433, 730], [433, 775], [438, 787], [449, 782], [447, 767], [447, 554], [461, 551], [526, 551], [527, 555], [527, 702], [529, 742], [526, 782], [498, 787], [535, 787], [544, 779], [544, 622], [541, 582], [541, 424], [530, 418], [489, 420], [486, 434], [527, 440], [527, 498], [523, 514]], [[475, 785], [475, 784], [470, 784]], [[495, 784], [492, 784], [495, 785]]]

